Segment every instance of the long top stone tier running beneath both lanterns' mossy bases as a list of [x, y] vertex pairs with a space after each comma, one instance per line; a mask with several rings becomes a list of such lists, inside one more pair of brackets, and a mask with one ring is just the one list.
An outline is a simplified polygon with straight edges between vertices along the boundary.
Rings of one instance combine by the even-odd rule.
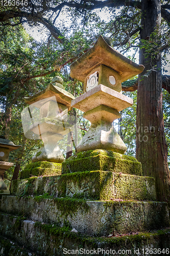
[[12, 195], [35, 196], [44, 193], [53, 197], [91, 200], [156, 201], [154, 178], [101, 170], [12, 181]]

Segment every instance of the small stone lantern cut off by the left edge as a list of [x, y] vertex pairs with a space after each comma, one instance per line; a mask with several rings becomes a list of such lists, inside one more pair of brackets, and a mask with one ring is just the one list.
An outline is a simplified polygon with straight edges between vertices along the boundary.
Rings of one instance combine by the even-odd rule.
[[20, 146], [15, 145], [11, 140], [7, 140], [4, 136], [0, 136], [0, 196], [10, 194], [7, 190], [7, 185], [2, 179], [2, 175], [6, 169], [13, 166], [13, 163], [8, 162], [9, 153], [13, 150], [17, 150]]

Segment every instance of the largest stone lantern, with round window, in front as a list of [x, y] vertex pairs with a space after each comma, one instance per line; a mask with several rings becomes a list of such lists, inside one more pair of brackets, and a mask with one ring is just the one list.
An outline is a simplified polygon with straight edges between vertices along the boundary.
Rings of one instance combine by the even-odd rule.
[[70, 76], [84, 83], [84, 93], [71, 106], [84, 113], [91, 126], [77, 151], [111, 150], [124, 154], [126, 145], [112, 122], [133, 100], [122, 94], [122, 82], [141, 73], [144, 67], [126, 58], [100, 35], [94, 46], [70, 66]]

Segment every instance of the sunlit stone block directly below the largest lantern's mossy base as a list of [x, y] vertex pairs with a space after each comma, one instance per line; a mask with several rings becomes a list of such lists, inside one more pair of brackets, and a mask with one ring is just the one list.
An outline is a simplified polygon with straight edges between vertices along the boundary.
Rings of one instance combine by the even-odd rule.
[[150, 177], [93, 171], [67, 174], [61, 179], [66, 180], [68, 197], [156, 201], [155, 181]]

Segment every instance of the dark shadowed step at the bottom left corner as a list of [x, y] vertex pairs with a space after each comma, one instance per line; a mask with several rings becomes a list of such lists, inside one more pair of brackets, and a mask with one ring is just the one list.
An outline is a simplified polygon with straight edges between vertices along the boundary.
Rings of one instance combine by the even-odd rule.
[[37, 256], [35, 252], [19, 246], [16, 241], [0, 236], [0, 255], [1, 256]]

